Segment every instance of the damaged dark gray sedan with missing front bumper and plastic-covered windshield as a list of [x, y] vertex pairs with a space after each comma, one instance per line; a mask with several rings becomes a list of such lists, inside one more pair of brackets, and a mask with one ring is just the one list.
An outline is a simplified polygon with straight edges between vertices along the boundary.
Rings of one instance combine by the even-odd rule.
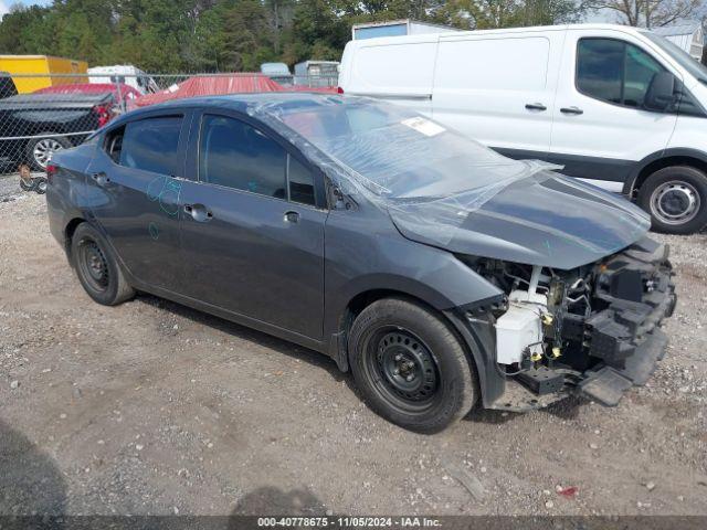
[[152, 293], [330, 356], [434, 432], [572, 393], [614, 405], [663, 356], [668, 251], [627, 201], [356, 97], [184, 99], [57, 153], [50, 226], [87, 294]]

